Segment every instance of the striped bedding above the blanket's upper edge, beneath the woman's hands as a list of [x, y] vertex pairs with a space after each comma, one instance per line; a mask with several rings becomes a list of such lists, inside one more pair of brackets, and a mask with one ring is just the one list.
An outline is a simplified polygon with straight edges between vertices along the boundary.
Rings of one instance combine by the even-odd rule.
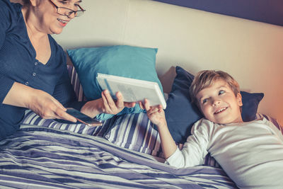
[[[84, 124], [66, 124], [55, 120], [42, 119], [33, 111], [26, 110], [23, 124], [104, 137], [119, 147], [150, 154], [156, 156], [156, 159], [163, 157], [159, 134], [157, 130], [154, 130], [146, 113], [114, 116], [105, 120], [102, 126], [89, 127]], [[178, 144], [178, 146], [182, 149], [183, 144]], [[209, 155], [206, 157], [204, 165], [220, 167], [214, 158]]]

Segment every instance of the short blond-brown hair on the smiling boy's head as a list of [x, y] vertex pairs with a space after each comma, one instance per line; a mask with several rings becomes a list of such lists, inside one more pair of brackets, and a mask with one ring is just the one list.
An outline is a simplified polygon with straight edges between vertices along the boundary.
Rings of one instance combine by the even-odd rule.
[[240, 86], [238, 82], [225, 71], [204, 70], [197, 73], [195, 79], [192, 81], [192, 85], [190, 86], [190, 96], [192, 98], [192, 102], [200, 107], [200, 104], [197, 100], [197, 93], [202, 91], [202, 89], [211, 86], [219, 79], [222, 79], [229, 84], [235, 96], [240, 93]]

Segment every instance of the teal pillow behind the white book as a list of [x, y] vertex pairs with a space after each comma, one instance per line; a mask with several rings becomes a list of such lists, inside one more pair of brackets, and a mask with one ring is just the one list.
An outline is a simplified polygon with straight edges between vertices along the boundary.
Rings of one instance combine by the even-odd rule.
[[[83, 93], [87, 100], [101, 98], [102, 89], [96, 81], [98, 73], [125, 76], [157, 82], [163, 92], [161, 82], [156, 74], [156, 48], [115, 45], [108, 47], [89, 47], [67, 50], [79, 75]], [[137, 104], [134, 108], [124, 108], [117, 115], [141, 113]], [[99, 120], [107, 120], [113, 115], [102, 113]]]

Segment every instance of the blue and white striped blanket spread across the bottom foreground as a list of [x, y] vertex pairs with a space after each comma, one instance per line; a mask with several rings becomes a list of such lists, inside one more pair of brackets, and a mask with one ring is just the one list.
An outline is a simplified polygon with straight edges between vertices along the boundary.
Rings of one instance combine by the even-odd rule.
[[0, 188], [236, 188], [221, 168], [176, 169], [102, 137], [22, 125], [0, 142]]

